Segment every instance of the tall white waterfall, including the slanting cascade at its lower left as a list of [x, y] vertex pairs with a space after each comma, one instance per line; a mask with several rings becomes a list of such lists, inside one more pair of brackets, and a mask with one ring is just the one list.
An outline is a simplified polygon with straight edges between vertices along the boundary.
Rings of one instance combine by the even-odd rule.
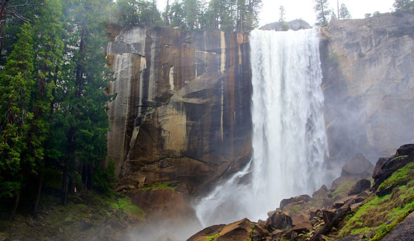
[[266, 219], [283, 198], [312, 193], [323, 182], [327, 142], [317, 30], [254, 30], [250, 56], [253, 158], [197, 204], [204, 226]]

